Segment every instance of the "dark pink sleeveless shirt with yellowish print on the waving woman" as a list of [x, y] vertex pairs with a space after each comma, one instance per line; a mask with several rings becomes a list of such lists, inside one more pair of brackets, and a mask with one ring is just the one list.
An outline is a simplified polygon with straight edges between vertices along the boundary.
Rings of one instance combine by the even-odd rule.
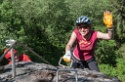
[[76, 34], [76, 47], [73, 51], [73, 55], [78, 60], [89, 60], [94, 55], [94, 48], [97, 42], [97, 31], [92, 31], [91, 38], [89, 40], [83, 39], [82, 35], [77, 29], [74, 30]]

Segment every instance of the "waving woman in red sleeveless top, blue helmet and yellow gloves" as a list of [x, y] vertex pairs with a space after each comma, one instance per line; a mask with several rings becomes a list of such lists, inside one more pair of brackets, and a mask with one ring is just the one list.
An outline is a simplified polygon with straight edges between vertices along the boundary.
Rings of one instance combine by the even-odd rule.
[[[110, 40], [113, 34], [112, 13], [104, 12], [103, 22], [108, 32], [92, 30], [92, 22], [87, 16], [80, 16], [76, 20], [76, 28], [73, 30], [71, 37], [65, 47], [64, 61], [71, 61], [73, 68], [88, 68], [90, 70], [100, 71], [94, 56], [94, 50], [98, 39]], [[71, 52], [73, 44], [76, 47]]]

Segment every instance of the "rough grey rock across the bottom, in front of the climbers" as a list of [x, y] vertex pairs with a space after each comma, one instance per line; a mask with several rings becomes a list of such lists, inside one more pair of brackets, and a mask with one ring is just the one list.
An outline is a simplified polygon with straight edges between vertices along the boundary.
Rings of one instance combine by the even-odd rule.
[[0, 69], [0, 82], [120, 82], [101, 72], [87, 69], [55, 67], [44, 63], [18, 62], [16, 76], [11, 65]]

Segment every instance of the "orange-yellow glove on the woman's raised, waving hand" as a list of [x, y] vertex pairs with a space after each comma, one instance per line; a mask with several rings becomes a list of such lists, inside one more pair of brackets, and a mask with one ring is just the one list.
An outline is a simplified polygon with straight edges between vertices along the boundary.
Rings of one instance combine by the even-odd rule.
[[112, 13], [110, 13], [109, 11], [105, 11], [103, 16], [103, 22], [108, 29], [111, 29], [113, 26]]

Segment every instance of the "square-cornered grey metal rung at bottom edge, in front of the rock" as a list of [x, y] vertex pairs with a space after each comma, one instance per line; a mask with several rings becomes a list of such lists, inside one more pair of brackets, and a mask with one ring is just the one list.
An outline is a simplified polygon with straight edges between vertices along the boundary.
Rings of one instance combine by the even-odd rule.
[[56, 82], [59, 81], [59, 71], [74, 71], [75, 72], [75, 79], [76, 79], [76, 82], [78, 82], [78, 73], [77, 73], [77, 70], [76, 69], [71, 69], [71, 68], [62, 68], [62, 69], [58, 69], [57, 72], [56, 72]]

